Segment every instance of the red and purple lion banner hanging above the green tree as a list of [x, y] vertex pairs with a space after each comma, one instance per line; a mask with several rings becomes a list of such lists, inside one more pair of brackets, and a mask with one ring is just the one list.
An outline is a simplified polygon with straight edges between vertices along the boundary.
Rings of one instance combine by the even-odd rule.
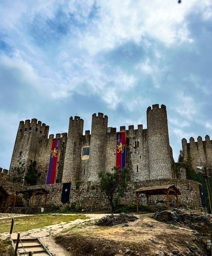
[[116, 133], [116, 167], [123, 169], [126, 163], [126, 131]]

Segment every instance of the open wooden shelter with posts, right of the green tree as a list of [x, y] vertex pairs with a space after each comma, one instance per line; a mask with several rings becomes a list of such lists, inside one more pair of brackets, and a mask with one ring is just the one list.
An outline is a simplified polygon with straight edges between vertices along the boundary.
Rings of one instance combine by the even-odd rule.
[[136, 205], [138, 213], [138, 196], [140, 194], [145, 194], [147, 196], [147, 211], [149, 212], [149, 197], [151, 195], [166, 195], [167, 200], [167, 209], [169, 210], [169, 195], [176, 196], [177, 199], [177, 208], [179, 208], [179, 199], [178, 195], [181, 195], [181, 192], [174, 185], [164, 185], [157, 187], [140, 187], [134, 191], [136, 194]]

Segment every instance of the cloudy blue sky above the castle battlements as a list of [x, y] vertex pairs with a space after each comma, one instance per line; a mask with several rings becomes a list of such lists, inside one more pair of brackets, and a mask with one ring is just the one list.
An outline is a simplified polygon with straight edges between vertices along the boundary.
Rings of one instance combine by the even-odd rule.
[[20, 120], [146, 128], [157, 103], [177, 161], [183, 137], [212, 138], [211, 97], [212, 0], [0, 0], [0, 167]]

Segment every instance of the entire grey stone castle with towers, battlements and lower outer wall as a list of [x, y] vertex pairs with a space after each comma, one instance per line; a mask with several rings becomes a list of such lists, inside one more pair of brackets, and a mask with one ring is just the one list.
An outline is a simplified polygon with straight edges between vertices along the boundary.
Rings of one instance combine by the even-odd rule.
[[[120, 126], [120, 132], [117, 132], [116, 128], [108, 127], [106, 115], [94, 113], [91, 132], [86, 130], [83, 135], [83, 122], [80, 117], [70, 117], [68, 133], [58, 133], [54, 138], [54, 135], [48, 136], [49, 126], [45, 123], [37, 119], [20, 121], [9, 175], [5, 175], [7, 170], [2, 171], [0, 185], [11, 194], [42, 187], [49, 192], [48, 204], [61, 206], [64, 204], [62, 191], [69, 184], [68, 204], [74, 203], [87, 211], [108, 209], [98, 173], [112, 172], [117, 166], [117, 135], [123, 133], [124, 161], [130, 172], [130, 182], [122, 204], [134, 204], [134, 190], [139, 187], [174, 184], [182, 194], [180, 204], [194, 209], [202, 207], [202, 185], [186, 179], [186, 170], [181, 165], [179, 168], [175, 166], [165, 105], [154, 104], [147, 108], [147, 129], [140, 124], [137, 129], [129, 126], [128, 130]], [[185, 161], [188, 155], [195, 158], [195, 165], [199, 159], [202, 162], [212, 159], [212, 143], [208, 136], [206, 142], [199, 138], [198, 143], [191, 139], [190, 144], [183, 139], [182, 147], [179, 162]], [[26, 181], [27, 169], [33, 162], [40, 174], [34, 186]], [[50, 177], [52, 166], [54, 176]], [[43, 205], [42, 200], [38, 197], [35, 205]], [[145, 199], [141, 200], [145, 203]]]

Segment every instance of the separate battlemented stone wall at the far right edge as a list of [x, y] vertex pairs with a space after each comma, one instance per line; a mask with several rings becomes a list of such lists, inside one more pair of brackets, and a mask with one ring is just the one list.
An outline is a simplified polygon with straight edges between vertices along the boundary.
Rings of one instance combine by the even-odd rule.
[[182, 139], [182, 150], [180, 151], [179, 162], [186, 161], [190, 157], [192, 159], [192, 167], [212, 164], [212, 140], [208, 135], [203, 141], [202, 137], [197, 138], [197, 142], [190, 137], [189, 143], [185, 138]]

